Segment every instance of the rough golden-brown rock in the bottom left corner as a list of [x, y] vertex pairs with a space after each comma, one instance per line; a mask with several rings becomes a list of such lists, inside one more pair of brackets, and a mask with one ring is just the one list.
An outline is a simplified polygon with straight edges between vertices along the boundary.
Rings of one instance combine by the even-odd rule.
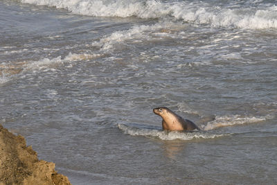
[[23, 136], [15, 136], [0, 125], [0, 185], [71, 184], [55, 171], [55, 164], [37, 159], [37, 153], [26, 146]]

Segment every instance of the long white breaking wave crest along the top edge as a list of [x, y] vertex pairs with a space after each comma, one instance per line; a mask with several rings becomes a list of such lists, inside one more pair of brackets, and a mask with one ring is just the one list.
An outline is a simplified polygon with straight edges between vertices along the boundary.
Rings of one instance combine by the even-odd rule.
[[202, 1], [154, 1], [154, 0], [21, 0], [40, 6], [64, 8], [78, 15], [95, 17], [140, 17], [143, 19], [160, 18], [181, 19], [194, 24], [209, 24], [235, 28], [265, 29], [277, 28], [277, 8], [257, 7], [254, 3], [249, 8], [224, 8]]

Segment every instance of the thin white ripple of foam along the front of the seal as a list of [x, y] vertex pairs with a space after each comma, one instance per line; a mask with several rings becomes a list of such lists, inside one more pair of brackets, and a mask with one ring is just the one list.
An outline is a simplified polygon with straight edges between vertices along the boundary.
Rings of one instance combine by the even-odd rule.
[[125, 134], [131, 136], [146, 136], [152, 138], [159, 138], [161, 140], [192, 140], [192, 139], [213, 139], [227, 134], [212, 134], [208, 132], [166, 132], [162, 130], [148, 130], [136, 127], [130, 127], [124, 124], [118, 124], [118, 128], [123, 130]]

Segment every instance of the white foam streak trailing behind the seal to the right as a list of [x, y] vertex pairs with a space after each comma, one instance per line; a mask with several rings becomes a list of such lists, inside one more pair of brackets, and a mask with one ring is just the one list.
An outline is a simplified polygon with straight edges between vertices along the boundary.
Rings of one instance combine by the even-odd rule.
[[241, 115], [233, 115], [233, 116], [216, 116], [214, 121], [210, 121], [207, 125], [203, 125], [203, 130], [213, 130], [218, 127], [227, 127], [231, 125], [242, 125], [246, 123], [257, 123], [260, 121], [266, 121], [267, 119], [271, 119], [273, 116], [241, 116]]

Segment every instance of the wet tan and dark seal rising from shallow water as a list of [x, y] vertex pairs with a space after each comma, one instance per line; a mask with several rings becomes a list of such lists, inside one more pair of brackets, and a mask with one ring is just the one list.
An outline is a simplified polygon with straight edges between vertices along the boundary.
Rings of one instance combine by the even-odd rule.
[[200, 130], [193, 121], [178, 116], [167, 107], [154, 108], [153, 112], [163, 118], [163, 130]]

